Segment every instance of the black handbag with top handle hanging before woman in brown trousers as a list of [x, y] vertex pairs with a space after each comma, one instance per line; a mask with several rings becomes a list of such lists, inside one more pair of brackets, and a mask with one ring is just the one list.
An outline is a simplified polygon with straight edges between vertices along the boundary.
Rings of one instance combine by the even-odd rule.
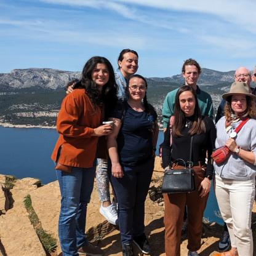
[[193, 136], [191, 137], [190, 143], [190, 161], [188, 162], [188, 168], [186, 167], [186, 162], [183, 159], [176, 159], [172, 162], [183, 162], [185, 166], [184, 169], [172, 170], [167, 169], [164, 172], [164, 180], [162, 182], [162, 193], [187, 193], [196, 190], [196, 183], [194, 182], [194, 170], [191, 167], [193, 164], [191, 162], [192, 156], [192, 141]]

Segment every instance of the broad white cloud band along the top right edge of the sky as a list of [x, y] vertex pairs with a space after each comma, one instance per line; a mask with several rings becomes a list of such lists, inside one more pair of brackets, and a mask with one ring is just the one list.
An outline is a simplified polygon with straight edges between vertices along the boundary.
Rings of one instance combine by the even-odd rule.
[[[128, 20], [160, 28], [167, 28], [169, 30], [174, 29], [182, 33], [186, 33], [187, 29], [184, 26], [177, 26], [178, 22], [175, 22], [175, 25], [172, 25], [172, 22], [174, 22], [174, 19], [171, 18], [172, 12], [178, 12], [178, 14], [175, 14], [176, 17], [182, 16], [182, 18], [180, 18], [180, 24], [182, 24], [183, 19], [185, 19], [187, 25], [196, 23], [197, 25], [204, 27], [204, 22], [207, 22], [207, 19], [217, 20], [220, 18], [223, 22], [238, 26], [238, 30], [243, 29], [248, 30], [250, 33], [255, 33], [254, 29], [251, 28], [251, 25], [256, 23], [256, 15], [254, 13], [256, 2], [249, 0], [216, 0], [214, 1], [214, 4], [209, 4], [209, 1], [204, 0], [194, 2], [188, 0], [41, 0], [41, 2], [62, 4], [64, 6], [90, 7], [102, 10], [107, 9], [116, 12]], [[150, 7], [151, 9], [146, 9], [146, 7]], [[156, 10], [152, 10], [152, 8]], [[207, 14], [211, 16], [204, 17], [205, 21], [198, 24], [198, 14]], [[169, 16], [169, 18], [163, 22], [162, 16]], [[188, 20], [187, 17], [189, 17], [190, 20]]]

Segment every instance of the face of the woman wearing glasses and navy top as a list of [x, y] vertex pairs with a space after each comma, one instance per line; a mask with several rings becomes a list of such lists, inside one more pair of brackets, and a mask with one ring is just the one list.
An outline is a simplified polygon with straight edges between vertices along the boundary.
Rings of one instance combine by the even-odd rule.
[[131, 100], [142, 100], [146, 94], [146, 83], [141, 78], [132, 78], [129, 81], [129, 98]]

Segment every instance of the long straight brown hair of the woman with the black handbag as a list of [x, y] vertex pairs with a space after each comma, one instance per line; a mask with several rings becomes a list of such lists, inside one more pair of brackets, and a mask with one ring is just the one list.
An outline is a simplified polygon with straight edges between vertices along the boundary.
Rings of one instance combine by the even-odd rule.
[[182, 109], [180, 108], [180, 94], [186, 91], [190, 91], [194, 95], [194, 100], [196, 105], [194, 108], [194, 121], [191, 129], [189, 130], [190, 135], [202, 134], [206, 132], [206, 125], [202, 120], [201, 111], [198, 105], [198, 97], [196, 96], [196, 91], [191, 86], [182, 86], [178, 89], [178, 92], [175, 96], [175, 107], [174, 107], [174, 126], [172, 127], [172, 135], [174, 137], [182, 137], [182, 130], [186, 124], [186, 117]]

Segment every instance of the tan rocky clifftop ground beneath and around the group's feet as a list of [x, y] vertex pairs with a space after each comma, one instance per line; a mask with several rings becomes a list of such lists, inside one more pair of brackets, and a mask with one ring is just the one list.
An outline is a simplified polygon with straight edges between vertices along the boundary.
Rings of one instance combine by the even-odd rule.
[[[152, 248], [151, 256], [164, 256], [164, 202], [157, 189], [161, 184], [162, 169], [159, 159], [156, 159], [150, 191], [146, 198], [145, 232], [149, 237]], [[58, 214], [60, 210], [60, 190], [58, 182], [41, 186], [35, 178], [15, 180], [0, 175], [0, 256], [61, 256], [58, 242]], [[36, 217], [25, 205], [25, 198], [31, 198], [31, 206], [38, 218], [37, 225], [33, 226]], [[121, 242], [118, 227], [106, 222], [98, 212], [100, 202], [96, 185], [87, 211], [86, 232], [87, 238], [95, 245], [102, 247], [105, 255], [121, 256]], [[254, 206], [252, 229], [256, 236], [256, 209]], [[38, 228], [46, 231], [55, 239], [52, 243], [53, 252], [46, 252], [38, 237]], [[222, 236], [222, 226], [216, 223], [204, 223], [204, 236], [201, 256], [213, 256], [217, 253], [218, 240]], [[182, 241], [181, 255], [187, 255], [187, 239]], [[135, 255], [143, 255], [134, 246]], [[255, 248], [254, 251], [256, 252]]]

